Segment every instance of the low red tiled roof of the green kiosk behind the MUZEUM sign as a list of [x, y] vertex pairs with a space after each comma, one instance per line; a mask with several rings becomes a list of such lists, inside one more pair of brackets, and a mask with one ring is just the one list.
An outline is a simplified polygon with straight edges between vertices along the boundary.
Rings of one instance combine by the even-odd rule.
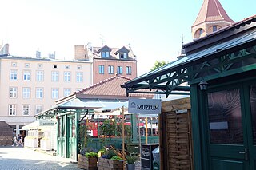
[[[121, 88], [121, 85], [130, 81], [130, 78], [122, 77], [121, 75], [115, 75], [104, 81], [100, 81], [94, 85], [90, 85], [85, 89], [77, 92], [77, 94], [89, 95], [89, 96], [113, 96], [113, 97], [126, 97], [126, 89]], [[132, 94], [133, 97], [153, 97], [152, 94]]]

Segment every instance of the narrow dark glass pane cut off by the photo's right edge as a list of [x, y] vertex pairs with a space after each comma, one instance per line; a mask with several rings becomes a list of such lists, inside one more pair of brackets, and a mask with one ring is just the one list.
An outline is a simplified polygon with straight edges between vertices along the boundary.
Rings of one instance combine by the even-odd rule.
[[254, 145], [256, 144], [256, 85], [250, 86], [250, 112], [253, 126]]

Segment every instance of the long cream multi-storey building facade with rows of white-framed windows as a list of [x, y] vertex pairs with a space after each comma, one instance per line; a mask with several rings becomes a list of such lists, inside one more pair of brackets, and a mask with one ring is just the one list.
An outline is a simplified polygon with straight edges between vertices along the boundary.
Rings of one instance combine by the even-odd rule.
[[0, 55], [0, 121], [19, 133], [54, 101], [92, 85], [92, 61]]

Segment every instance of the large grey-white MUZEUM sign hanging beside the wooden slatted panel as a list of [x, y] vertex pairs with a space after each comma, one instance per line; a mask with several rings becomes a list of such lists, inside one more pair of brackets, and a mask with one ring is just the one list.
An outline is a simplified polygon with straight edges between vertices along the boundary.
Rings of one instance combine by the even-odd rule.
[[161, 113], [161, 100], [129, 99], [128, 113], [159, 114]]

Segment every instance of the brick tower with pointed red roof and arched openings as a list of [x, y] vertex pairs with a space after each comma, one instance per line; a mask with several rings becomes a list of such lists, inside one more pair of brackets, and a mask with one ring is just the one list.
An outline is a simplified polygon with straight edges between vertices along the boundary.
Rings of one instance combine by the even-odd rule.
[[202, 38], [233, 22], [218, 0], [204, 0], [198, 17], [191, 26], [192, 36], [194, 39]]

